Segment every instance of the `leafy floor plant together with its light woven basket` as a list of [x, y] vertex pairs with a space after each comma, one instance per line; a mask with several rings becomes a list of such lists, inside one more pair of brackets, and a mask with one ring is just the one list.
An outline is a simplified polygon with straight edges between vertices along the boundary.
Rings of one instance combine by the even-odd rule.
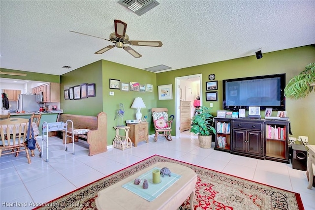
[[209, 112], [209, 108], [200, 106], [196, 110], [197, 114], [191, 120], [190, 132], [198, 134], [199, 146], [201, 148], [211, 148], [212, 135], [216, 133], [216, 129], [212, 127], [213, 116]]

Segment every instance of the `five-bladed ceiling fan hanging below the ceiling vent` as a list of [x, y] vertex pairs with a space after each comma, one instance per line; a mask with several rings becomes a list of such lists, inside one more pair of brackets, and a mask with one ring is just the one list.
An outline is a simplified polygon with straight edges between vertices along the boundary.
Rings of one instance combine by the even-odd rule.
[[126, 34], [126, 29], [127, 29], [127, 24], [124, 23], [123, 21], [120, 20], [114, 20], [115, 24], [115, 32], [111, 33], [109, 35], [109, 39], [85, 34], [85, 33], [80, 33], [76, 31], [70, 30], [70, 32], [75, 32], [75, 33], [80, 33], [83, 35], [88, 35], [88, 36], [93, 36], [96, 38], [100, 39], [105, 39], [107, 41], [115, 43], [114, 45], [108, 45], [107, 47], [104, 47], [103, 49], [100, 49], [99, 51], [95, 52], [95, 54], [102, 54], [105, 53], [106, 51], [118, 47], [118, 48], [123, 48], [126, 50], [131, 56], [134, 58], [140, 58], [141, 55], [132, 49], [129, 46], [125, 46], [125, 44], [133, 45], [133, 46], [149, 46], [149, 47], [161, 47], [163, 44], [161, 41], [134, 41], [134, 40], [129, 40], [129, 36]]

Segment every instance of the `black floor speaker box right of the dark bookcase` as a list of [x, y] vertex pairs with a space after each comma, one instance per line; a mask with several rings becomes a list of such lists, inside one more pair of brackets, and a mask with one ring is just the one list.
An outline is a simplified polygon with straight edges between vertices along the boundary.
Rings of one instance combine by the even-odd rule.
[[307, 169], [307, 150], [303, 145], [292, 144], [292, 168], [301, 171]]

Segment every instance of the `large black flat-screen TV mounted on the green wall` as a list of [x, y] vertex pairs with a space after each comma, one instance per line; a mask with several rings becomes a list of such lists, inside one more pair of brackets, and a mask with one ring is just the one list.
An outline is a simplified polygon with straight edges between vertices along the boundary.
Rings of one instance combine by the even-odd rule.
[[223, 80], [223, 109], [285, 110], [285, 74]]

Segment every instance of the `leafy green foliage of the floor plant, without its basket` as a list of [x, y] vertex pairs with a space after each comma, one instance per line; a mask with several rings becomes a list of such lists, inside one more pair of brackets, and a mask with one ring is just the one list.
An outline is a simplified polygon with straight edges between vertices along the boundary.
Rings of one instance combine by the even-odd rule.
[[205, 106], [201, 106], [197, 110], [197, 115], [193, 116], [191, 120], [190, 133], [200, 136], [210, 136], [216, 133], [216, 129], [212, 127], [213, 116], [209, 111], [209, 108]]

